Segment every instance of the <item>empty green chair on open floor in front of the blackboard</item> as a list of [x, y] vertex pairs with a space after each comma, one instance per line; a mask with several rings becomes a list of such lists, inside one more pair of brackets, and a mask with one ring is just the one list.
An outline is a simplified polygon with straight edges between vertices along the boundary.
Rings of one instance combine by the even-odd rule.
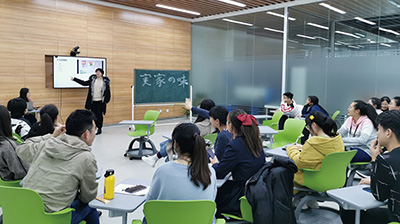
[[[150, 135], [154, 134], [154, 127], [159, 111], [148, 110], [144, 114], [145, 121], [154, 121], [153, 125], [135, 125], [135, 131], [128, 132], [128, 135], [134, 137], [134, 139], [129, 143], [128, 150], [125, 152], [124, 156], [129, 157], [129, 159], [140, 159], [142, 156], [154, 155], [158, 151], [154, 143], [150, 140]], [[135, 142], [139, 143], [139, 148], [133, 148]], [[151, 147], [146, 147], [146, 142], [150, 144]]]

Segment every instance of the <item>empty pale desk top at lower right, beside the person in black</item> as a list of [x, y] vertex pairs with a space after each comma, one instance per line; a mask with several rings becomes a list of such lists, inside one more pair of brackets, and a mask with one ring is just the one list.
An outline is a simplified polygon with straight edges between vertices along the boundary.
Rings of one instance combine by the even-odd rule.
[[[385, 202], [378, 201], [372, 193], [369, 193], [363, 188], [369, 185], [357, 185], [344, 187], [335, 190], [327, 191], [326, 193], [339, 201], [349, 205], [347, 209], [371, 209], [385, 205]], [[345, 207], [344, 207], [345, 208]], [[345, 208], [346, 209], [346, 208]]]

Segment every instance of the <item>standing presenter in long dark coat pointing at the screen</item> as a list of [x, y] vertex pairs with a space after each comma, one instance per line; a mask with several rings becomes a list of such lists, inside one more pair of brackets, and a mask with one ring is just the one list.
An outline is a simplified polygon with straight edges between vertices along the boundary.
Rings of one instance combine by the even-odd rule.
[[104, 76], [104, 70], [101, 68], [96, 69], [96, 75], [91, 75], [87, 81], [76, 77], [71, 77], [71, 79], [82, 86], [89, 86], [85, 108], [96, 115], [96, 135], [101, 134], [103, 114], [106, 114], [106, 104], [111, 99], [110, 79]]

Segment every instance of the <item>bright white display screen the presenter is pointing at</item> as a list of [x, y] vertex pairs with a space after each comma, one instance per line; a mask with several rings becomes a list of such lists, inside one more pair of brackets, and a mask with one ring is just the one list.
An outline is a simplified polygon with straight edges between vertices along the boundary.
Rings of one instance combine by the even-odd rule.
[[72, 81], [71, 77], [86, 81], [98, 68], [107, 75], [106, 62], [106, 58], [53, 56], [53, 88], [87, 88]]

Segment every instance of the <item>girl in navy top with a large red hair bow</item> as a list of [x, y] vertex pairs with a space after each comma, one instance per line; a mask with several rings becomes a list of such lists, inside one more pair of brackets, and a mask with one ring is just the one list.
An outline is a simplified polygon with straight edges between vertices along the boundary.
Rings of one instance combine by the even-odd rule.
[[211, 163], [218, 179], [231, 172], [233, 180], [228, 180], [218, 188], [215, 202], [217, 214], [240, 214], [239, 198], [244, 195], [246, 181], [264, 165], [265, 154], [253, 115], [242, 110], [233, 110], [228, 114], [227, 124], [233, 140], [226, 146], [221, 161], [214, 157]]

